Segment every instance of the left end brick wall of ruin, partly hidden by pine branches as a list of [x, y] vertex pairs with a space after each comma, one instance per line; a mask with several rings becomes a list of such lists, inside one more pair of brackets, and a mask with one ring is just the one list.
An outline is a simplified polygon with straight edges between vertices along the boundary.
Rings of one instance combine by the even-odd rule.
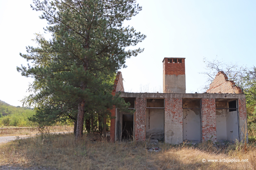
[[[121, 71], [116, 73], [116, 79], [113, 85], [112, 95], [115, 96], [116, 92], [124, 92], [124, 85], [123, 85], [123, 77]], [[116, 107], [114, 106], [111, 110], [111, 117], [110, 120], [110, 141], [115, 142], [115, 134], [116, 134]]]

